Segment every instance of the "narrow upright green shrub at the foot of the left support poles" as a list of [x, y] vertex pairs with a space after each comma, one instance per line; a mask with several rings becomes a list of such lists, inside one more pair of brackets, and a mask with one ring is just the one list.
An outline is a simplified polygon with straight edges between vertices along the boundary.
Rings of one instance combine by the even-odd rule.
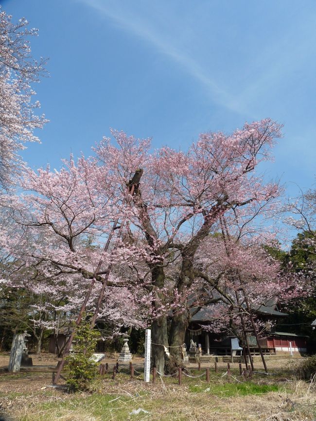
[[100, 333], [90, 329], [89, 320], [83, 320], [74, 336], [73, 352], [66, 358], [67, 381], [71, 391], [88, 390], [96, 374], [96, 364], [91, 361]]

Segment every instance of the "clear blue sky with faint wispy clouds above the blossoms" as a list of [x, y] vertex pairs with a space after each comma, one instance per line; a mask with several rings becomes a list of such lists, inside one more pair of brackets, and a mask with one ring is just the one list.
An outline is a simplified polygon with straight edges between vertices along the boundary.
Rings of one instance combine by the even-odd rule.
[[50, 77], [35, 86], [50, 123], [24, 158], [60, 166], [109, 127], [185, 149], [204, 131], [271, 117], [284, 138], [266, 175], [287, 194], [316, 162], [315, 0], [0, 0], [39, 36]]

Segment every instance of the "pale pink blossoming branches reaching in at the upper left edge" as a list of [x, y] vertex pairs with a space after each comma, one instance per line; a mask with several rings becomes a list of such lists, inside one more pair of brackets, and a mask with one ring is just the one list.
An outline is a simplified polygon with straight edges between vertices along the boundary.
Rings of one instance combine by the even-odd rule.
[[43, 127], [44, 115], [37, 116], [38, 101], [32, 102], [35, 91], [31, 84], [45, 73], [45, 61], [31, 55], [29, 37], [36, 29], [28, 29], [22, 18], [12, 22], [11, 15], [0, 9], [0, 187], [7, 187], [11, 175], [21, 166], [18, 151], [25, 142], [39, 141], [33, 131]]

